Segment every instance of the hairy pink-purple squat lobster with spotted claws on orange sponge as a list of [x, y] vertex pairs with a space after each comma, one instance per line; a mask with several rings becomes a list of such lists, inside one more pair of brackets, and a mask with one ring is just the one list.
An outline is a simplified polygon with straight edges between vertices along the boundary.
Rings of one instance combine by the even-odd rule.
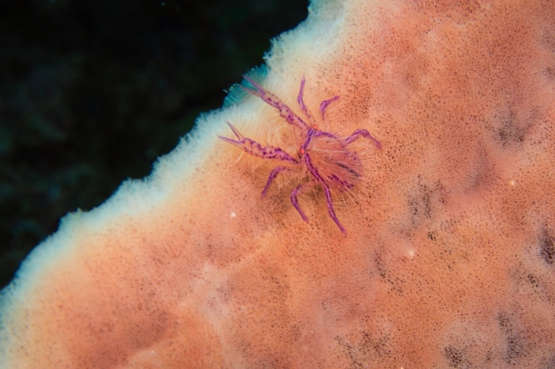
[[[289, 155], [286, 151], [281, 148], [274, 146], [261, 146], [261, 144], [243, 137], [240, 132], [231, 125], [227, 124], [237, 137], [237, 140], [228, 139], [227, 137], [221, 137], [224, 141], [241, 148], [243, 151], [258, 156], [264, 159], [275, 159], [281, 160], [282, 162], [287, 162], [289, 165], [276, 167], [270, 172], [268, 176], [268, 181], [266, 186], [262, 190], [262, 197], [266, 195], [270, 184], [273, 182], [276, 176], [281, 172], [293, 169], [294, 166], [302, 165], [306, 168], [307, 172], [310, 174], [309, 180], [301, 183], [291, 193], [291, 202], [295, 209], [299, 211], [301, 217], [304, 221], [308, 223], [308, 218], [299, 207], [299, 202], [297, 196], [305, 190], [308, 190], [312, 186], [320, 186], [324, 190], [327, 200], [327, 209], [329, 216], [337, 224], [343, 234], [347, 234], [343, 225], [338, 220], [334, 211], [334, 202], [331, 200], [331, 190], [343, 191], [348, 190], [355, 186], [355, 183], [359, 181], [362, 172], [362, 163], [355, 152], [348, 150], [348, 145], [359, 137], [364, 137], [369, 139], [376, 148], [381, 148], [380, 142], [372, 137], [372, 135], [366, 130], [356, 130], [347, 139], [339, 139], [334, 134], [329, 132], [324, 132], [318, 128], [313, 116], [306, 108], [303, 102], [303, 91], [305, 86], [305, 79], [301, 81], [301, 89], [299, 90], [299, 96], [297, 97], [297, 102], [303, 111], [306, 121], [301, 117], [297, 116], [289, 106], [282, 102], [278, 97], [273, 95], [261, 88], [260, 85], [255, 83], [251, 78], [244, 76], [245, 80], [252, 85], [251, 88], [246, 88], [240, 85], [240, 88], [245, 90], [251, 95], [260, 97], [266, 104], [273, 106], [278, 109], [280, 116], [287, 120], [288, 123], [294, 126], [294, 130], [297, 136], [300, 138], [299, 153], [296, 157]], [[322, 116], [322, 121], [325, 121], [325, 111], [327, 106], [338, 99], [338, 96], [332, 97], [331, 99], [324, 100], [320, 104], [320, 114]]]

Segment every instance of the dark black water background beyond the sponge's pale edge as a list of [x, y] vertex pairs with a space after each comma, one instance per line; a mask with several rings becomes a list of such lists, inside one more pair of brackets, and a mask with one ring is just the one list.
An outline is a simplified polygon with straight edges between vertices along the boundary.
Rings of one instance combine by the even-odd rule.
[[0, 0], [0, 288], [62, 216], [142, 178], [307, 0]]

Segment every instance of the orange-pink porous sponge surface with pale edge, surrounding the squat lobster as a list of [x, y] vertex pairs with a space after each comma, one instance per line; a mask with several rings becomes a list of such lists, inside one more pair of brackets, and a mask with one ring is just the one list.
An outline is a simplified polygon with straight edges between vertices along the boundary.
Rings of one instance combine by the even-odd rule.
[[[337, 214], [264, 199], [287, 148], [245, 97], [198, 119], [144, 181], [64, 218], [2, 291], [0, 368], [551, 368], [555, 5], [318, 1], [263, 87], [383, 150]], [[362, 148], [361, 148], [362, 149]]]

